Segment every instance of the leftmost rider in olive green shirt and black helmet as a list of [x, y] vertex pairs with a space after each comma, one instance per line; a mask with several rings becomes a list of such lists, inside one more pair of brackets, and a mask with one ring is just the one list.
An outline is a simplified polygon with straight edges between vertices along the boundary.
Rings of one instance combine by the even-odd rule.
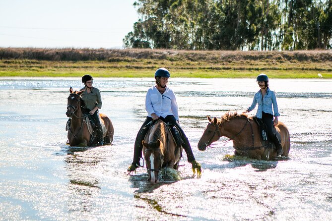
[[95, 123], [95, 130], [88, 146], [102, 146], [103, 145], [103, 130], [99, 119], [99, 109], [101, 109], [101, 95], [98, 88], [92, 87], [93, 78], [91, 75], [84, 75], [82, 77], [82, 83], [85, 87], [81, 89], [84, 92], [81, 94], [81, 98], [84, 101], [82, 104], [82, 112], [84, 114], [90, 114]]

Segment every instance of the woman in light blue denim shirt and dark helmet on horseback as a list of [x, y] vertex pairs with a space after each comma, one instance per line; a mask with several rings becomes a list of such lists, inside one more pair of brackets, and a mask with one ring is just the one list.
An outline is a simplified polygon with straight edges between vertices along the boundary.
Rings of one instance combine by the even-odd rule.
[[[261, 88], [254, 96], [253, 104], [245, 111], [250, 112], [255, 109], [258, 104], [256, 116], [261, 118], [267, 127], [268, 138], [274, 143], [277, 148], [277, 156], [282, 155], [282, 147], [276, 134], [273, 132], [273, 127], [278, 124], [278, 105], [274, 91], [268, 87], [268, 77], [266, 74], [257, 76], [257, 83]], [[273, 111], [272, 111], [273, 107]], [[273, 120], [274, 116], [274, 120]]]

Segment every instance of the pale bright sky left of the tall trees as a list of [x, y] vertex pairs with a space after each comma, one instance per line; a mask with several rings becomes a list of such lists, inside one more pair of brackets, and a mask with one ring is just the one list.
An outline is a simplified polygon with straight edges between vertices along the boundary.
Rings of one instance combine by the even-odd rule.
[[122, 48], [135, 0], [0, 0], [0, 47]]

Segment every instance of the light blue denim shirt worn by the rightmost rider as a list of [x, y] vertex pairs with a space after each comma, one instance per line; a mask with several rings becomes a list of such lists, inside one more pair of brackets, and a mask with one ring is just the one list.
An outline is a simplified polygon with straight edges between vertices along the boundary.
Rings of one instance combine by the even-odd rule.
[[270, 113], [273, 115], [272, 106], [274, 110], [274, 116], [280, 116], [278, 112], [278, 105], [276, 103], [276, 96], [274, 91], [271, 91], [269, 88], [266, 90], [266, 95], [262, 99], [261, 90], [259, 90], [253, 100], [253, 104], [248, 108], [248, 111], [252, 111], [255, 109], [256, 104], [258, 104], [258, 109], [256, 116], [258, 118], [262, 118], [262, 112]]

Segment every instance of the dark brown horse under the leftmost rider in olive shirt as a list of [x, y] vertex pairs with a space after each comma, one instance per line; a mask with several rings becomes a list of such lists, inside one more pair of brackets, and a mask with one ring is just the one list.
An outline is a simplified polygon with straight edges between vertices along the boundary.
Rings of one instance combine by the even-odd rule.
[[[81, 110], [81, 100], [80, 95], [84, 92], [82, 91], [73, 91], [70, 87], [69, 97], [67, 102], [67, 117], [71, 118], [70, 126], [68, 128], [68, 141], [69, 145], [72, 146], [87, 146], [90, 141], [90, 132], [88, 130], [88, 124], [86, 117]], [[100, 113], [100, 121], [106, 127], [106, 135], [104, 133], [104, 145], [111, 144], [113, 141], [114, 128], [112, 121], [105, 114]]]

